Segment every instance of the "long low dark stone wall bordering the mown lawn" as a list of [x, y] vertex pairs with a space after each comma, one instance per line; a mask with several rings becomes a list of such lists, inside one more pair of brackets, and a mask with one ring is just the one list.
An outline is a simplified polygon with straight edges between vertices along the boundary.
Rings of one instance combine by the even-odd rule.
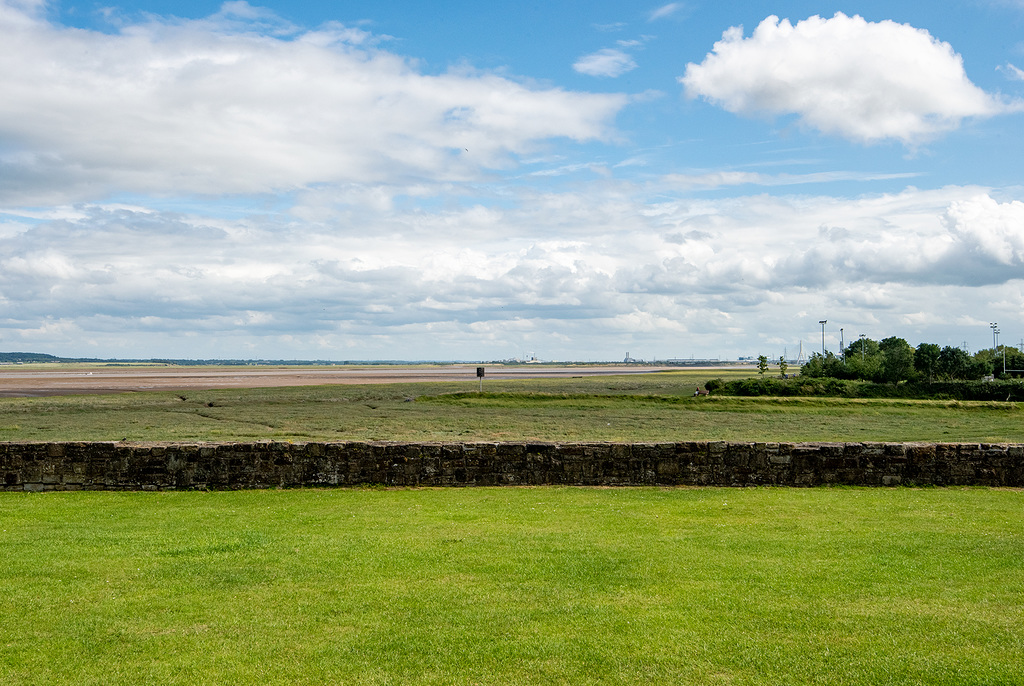
[[1024, 444], [0, 443], [2, 490], [297, 486], [1024, 486]]

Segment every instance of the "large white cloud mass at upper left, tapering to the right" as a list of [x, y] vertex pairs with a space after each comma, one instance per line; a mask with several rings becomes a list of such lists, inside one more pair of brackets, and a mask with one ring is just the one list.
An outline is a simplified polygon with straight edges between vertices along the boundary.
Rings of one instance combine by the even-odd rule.
[[282, 36], [244, 2], [114, 34], [36, 4], [0, 0], [0, 202], [13, 205], [474, 178], [550, 138], [605, 138], [627, 102], [427, 75], [358, 30]]

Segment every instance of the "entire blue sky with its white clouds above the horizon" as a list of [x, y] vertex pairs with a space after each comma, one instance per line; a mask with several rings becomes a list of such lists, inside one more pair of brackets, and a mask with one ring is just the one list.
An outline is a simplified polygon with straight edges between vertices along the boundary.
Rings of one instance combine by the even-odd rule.
[[0, 349], [1017, 344], [1022, 29], [1019, 0], [0, 0]]

